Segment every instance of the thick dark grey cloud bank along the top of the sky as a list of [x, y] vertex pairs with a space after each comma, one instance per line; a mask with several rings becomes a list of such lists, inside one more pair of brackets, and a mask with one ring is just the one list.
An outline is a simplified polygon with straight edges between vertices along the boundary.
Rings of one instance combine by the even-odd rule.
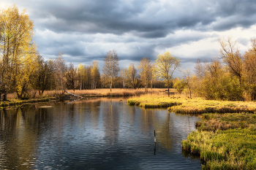
[[45, 18], [38, 27], [56, 32], [120, 35], [136, 31], [136, 36], [156, 38], [181, 28], [196, 30], [197, 26], [207, 26], [207, 30], [219, 31], [256, 23], [255, 1], [173, 2], [39, 1], [31, 6], [36, 7], [34, 18]]

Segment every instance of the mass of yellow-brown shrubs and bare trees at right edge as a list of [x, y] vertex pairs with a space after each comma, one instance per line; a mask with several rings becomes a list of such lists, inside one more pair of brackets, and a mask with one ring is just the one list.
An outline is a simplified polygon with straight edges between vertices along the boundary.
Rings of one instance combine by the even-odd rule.
[[195, 74], [189, 69], [183, 77], [177, 77], [173, 87], [181, 93], [186, 89], [195, 96], [206, 99], [229, 101], [256, 100], [256, 39], [251, 47], [241, 55], [237, 42], [230, 37], [219, 39], [221, 46], [219, 57], [210, 62], [197, 59]]

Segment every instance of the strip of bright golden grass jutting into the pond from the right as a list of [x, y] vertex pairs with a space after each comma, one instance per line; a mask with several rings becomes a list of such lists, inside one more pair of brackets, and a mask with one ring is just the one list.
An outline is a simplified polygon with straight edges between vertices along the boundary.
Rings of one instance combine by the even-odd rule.
[[169, 112], [184, 114], [256, 112], [256, 103], [252, 101], [214, 101], [178, 96], [130, 98], [128, 104], [139, 107], [168, 107]]

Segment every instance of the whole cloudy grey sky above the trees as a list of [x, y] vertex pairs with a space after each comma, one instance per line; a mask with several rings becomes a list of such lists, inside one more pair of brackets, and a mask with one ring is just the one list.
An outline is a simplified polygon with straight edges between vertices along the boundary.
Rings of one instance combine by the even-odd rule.
[[114, 49], [120, 69], [169, 51], [193, 72], [197, 58], [219, 57], [218, 39], [231, 36], [243, 55], [256, 38], [255, 0], [1, 0], [0, 9], [12, 4], [34, 21], [45, 60], [63, 51], [67, 63], [100, 69]]

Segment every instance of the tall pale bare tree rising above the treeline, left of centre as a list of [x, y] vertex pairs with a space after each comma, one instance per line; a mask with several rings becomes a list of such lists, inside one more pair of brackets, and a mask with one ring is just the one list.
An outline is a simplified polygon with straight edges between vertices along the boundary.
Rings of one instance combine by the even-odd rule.
[[113, 78], [115, 78], [119, 72], [118, 61], [116, 50], [110, 50], [105, 55], [102, 72], [104, 77], [110, 82], [110, 91], [112, 91]]

